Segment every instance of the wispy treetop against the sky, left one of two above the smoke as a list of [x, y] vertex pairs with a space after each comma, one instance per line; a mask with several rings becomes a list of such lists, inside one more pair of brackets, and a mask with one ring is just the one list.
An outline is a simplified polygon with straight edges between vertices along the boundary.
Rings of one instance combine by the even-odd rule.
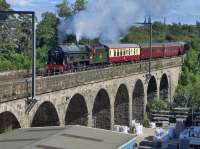
[[61, 4], [56, 5], [58, 16], [61, 18], [67, 18], [72, 16], [72, 7], [67, 0], [63, 0]]

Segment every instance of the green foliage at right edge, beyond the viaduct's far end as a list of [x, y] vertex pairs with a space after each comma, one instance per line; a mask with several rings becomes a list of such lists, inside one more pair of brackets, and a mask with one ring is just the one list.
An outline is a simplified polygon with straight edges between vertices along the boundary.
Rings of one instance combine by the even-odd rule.
[[191, 107], [199, 110], [200, 107], [200, 40], [194, 39], [191, 48], [187, 51], [183, 72], [175, 96], [176, 106]]

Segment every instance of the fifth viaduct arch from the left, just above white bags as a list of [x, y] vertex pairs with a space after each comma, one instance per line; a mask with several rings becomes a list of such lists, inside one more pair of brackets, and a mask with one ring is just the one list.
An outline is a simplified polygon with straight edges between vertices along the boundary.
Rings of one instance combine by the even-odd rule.
[[129, 94], [124, 84], [121, 84], [117, 90], [114, 103], [114, 120], [116, 125], [129, 125]]

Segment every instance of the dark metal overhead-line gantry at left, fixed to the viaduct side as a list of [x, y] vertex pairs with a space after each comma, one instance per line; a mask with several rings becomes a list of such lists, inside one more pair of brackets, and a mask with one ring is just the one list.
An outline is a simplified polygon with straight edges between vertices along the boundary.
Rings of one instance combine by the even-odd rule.
[[32, 94], [31, 98], [26, 101], [26, 112], [29, 112], [33, 105], [36, 103], [36, 30], [35, 30], [35, 12], [34, 11], [2, 11], [0, 15], [12, 15], [12, 14], [25, 14], [32, 17]]

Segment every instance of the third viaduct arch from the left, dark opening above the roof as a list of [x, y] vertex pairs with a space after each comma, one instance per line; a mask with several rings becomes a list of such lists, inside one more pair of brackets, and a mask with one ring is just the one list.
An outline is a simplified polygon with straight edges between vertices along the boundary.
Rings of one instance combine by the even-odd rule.
[[88, 108], [82, 95], [76, 94], [70, 100], [65, 115], [65, 125], [88, 125]]

